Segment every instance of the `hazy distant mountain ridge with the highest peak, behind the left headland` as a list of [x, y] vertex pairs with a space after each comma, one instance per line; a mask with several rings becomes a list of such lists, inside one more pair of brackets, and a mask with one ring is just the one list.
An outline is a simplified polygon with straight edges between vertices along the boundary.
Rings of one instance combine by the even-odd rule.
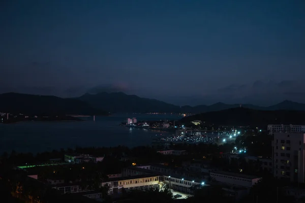
[[277, 105], [269, 107], [260, 107], [251, 104], [233, 104], [228, 105], [224, 103], [216, 103], [214, 105], [199, 105], [191, 106], [176, 106], [165, 103], [157, 99], [142, 98], [136, 95], [128, 95], [123, 92], [115, 93], [98, 93], [98, 94], [84, 94], [77, 99], [86, 101], [89, 105], [105, 109], [109, 112], [127, 112], [127, 113], [147, 113], [147, 112], [165, 112], [165, 113], [203, 113], [210, 111], [220, 111], [225, 109], [232, 109], [237, 107], [244, 107], [256, 110], [301, 110], [305, 111], [305, 104], [296, 103], [285, 100]]

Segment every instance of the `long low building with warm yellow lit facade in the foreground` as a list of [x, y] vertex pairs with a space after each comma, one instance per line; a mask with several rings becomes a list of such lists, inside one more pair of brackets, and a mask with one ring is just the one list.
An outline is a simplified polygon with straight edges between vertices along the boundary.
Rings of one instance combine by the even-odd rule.
[[145, 174], [137, 176], [111, 178], [102, 185], [108, 185], [109, 194], [120, 194], [129, 190], [148, 190], [150, 188], [159, 189], [159, 176], [154, 174]]

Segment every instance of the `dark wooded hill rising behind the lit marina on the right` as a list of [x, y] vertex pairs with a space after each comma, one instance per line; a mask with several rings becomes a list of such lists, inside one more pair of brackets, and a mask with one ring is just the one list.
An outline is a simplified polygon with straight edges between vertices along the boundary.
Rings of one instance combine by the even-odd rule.
[[256, 126], [265, 128], [268, 124], [304, 124], [305, 111], [291, 110], [255, 110], [234, 108], [221, 111], [205, 112], [181, 119], [182, 123], [201, 120], [205, 125]]

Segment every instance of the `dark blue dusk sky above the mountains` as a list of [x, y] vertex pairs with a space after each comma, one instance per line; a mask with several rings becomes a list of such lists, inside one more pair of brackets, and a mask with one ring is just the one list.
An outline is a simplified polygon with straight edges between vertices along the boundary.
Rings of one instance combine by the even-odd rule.
[[0, 93], [305, 103], [305, 1], [0, 1]]

